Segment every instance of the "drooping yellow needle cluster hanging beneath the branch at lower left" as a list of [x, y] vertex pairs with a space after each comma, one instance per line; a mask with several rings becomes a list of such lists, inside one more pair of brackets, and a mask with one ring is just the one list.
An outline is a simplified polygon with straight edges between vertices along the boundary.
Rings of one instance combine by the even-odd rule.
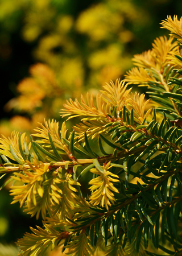
[[[39, 166], [34, 162], [34, 166], [28, 163], [29, 170], [24, 170], [24, 174], [15, 172], [13, 179], [18, 180], [22, 185], [13, 185], [11, 195], [14, 196], [13, 203], [19, 201], [20, 207], [39, 218], [42, 214], [43, 219], [49, 215], [70, 213], [78, 201], [74, 185], [80, 185], [72, 179], [72, 176], [62, 169], [57, 172], [49, 172], [49, 164], [40, 163]], [[64, 197], [67, 195], [67, 197]]]

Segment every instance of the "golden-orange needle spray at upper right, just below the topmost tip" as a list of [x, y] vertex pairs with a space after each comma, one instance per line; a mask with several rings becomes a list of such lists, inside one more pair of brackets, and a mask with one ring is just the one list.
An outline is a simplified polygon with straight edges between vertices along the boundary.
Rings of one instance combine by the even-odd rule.
[[173, 84], [179, 84], [180, 81], [180, 72], [177, 69], [176, 77], [172, 77], [175, 72], [172, 64], [179, 64], [175, 58], [180, 55], [177, 42], [172, 40], [173, 38], [167, 39], [166, 36], [155, 39], [151, 50], [134, 56], [133, 62], [136, 67], [128, 71], [125, 77], [130, 84], [147, 86], [150, 89], [147, 93], [158, 104], [158, 109], [161, 112], [171, 112], [174, 116], [180, 113], [177, 106], [169, 97], [163, 97], [163, 93], [166, 92], [176, 93], [177, 88]]

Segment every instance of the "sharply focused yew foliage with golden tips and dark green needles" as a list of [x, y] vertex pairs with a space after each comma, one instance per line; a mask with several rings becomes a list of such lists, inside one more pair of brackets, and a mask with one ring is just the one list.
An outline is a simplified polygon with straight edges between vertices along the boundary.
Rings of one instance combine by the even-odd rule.
[[162, 27], [170, 38], [135, 55], [125, 80], [67, 101], [61, 116], [82, 118], [72, 130], [49, 120], [1, 139], [13, 203], [43, 219], [19, 255], [181, 255], [182, 18]]

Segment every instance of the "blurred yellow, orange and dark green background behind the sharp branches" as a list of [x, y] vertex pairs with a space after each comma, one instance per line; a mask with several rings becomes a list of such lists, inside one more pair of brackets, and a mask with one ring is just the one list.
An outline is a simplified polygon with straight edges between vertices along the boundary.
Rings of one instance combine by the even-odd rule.
[[[59, 120], [69, 97], [122, 78], [134, 54], [167, 35], [160, 28], [167, 15], [180, 18], [182, 2], [0, 0], [0, 133], [31, 133], [44, 117]], [[41, 225], [10, 203], [7, 187], [0, 192], [0, 256], [16, 255], [5, 245]]]

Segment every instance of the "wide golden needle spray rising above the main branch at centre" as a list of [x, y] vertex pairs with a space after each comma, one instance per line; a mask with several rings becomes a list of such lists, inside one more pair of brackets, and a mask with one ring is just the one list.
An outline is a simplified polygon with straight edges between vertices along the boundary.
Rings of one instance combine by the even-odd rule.
[[[144, 94], [131, 93], [131, 88], [127, 89], [125, 81], [116, 80], [106, 84], [104, 90], [98, 93], [96, 100], [93, 96], [87, 97], [85, 100], [81, 96], [81, 102], [76, 99], [75, 102], [70, 100], [64, 105], [62, 116], [69, 118], [76, 116], [86, 116], [74, 126], [76, 139], [82, 141], [84, 134], [92, 139], [97, 138], [98, 134], [111, 133], [114, 130], [112, 139], [122, 131], [123, 125], [134, 126], [135, 123], [143, 124], [151, 112], [149, 100], [145, 100]], [[68, 119], [69, 119], [68, 118]], [[116, 127], [110, 127], [117, 123]]]

